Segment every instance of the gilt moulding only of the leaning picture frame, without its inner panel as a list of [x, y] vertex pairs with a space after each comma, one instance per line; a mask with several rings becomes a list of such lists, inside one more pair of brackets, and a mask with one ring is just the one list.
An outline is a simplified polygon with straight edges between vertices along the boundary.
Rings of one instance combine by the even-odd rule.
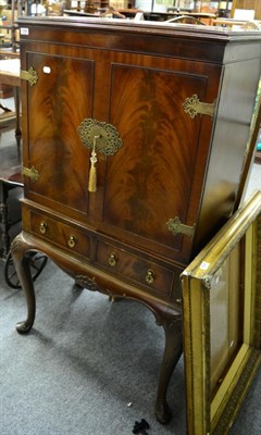
[[[182, 274], [188, 435], [227, 434], [261, 364], [260, 212], [261, 192], [258, 192]], [[244, 314], [244, 339], [216, 399], [217, 394], [213, 398], [210, 395], [211, 277], [244, 237], [250, 258], [246, 275], [247, 272], [251, 275], [245, 283], [244, 307], [248, 306], [248, 312]]]

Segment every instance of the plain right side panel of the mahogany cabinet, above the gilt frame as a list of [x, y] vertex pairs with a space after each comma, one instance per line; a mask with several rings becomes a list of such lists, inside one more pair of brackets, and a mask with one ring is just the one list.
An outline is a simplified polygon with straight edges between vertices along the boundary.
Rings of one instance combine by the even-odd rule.
[[224, 70], [200, 222], [195, 238], [195, 253], [208, 243], [234, 210], [260, 71], [260, 59], [232, 63]]

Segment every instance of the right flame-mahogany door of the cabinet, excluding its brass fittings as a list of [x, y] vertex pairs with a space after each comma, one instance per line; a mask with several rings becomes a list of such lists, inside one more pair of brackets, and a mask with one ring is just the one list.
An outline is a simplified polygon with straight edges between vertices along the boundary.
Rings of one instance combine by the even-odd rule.
[[107, 160], [103, 231], [130, 244], [187, 261], [192, 238], [173, 235], [178, 217], [192, 227], [203, 188], [212, 119], [191, 119], [187, 98], [213, 102], [219, 66], [125, 55], [110, 65], [109, 121], [122, 138]]

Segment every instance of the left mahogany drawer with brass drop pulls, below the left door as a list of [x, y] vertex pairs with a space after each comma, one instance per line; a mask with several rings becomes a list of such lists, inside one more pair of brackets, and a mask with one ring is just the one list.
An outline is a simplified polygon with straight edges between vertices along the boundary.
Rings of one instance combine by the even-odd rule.
[[30, 212], [30, 231], [70, 251], [89, 257], [90, 237], [70, 225], [40, 213]]

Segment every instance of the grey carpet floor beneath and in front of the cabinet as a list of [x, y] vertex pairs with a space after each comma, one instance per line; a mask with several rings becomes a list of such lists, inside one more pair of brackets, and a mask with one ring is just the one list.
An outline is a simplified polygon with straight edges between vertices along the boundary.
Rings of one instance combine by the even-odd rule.
[[[172, 422], [153, 415], [163, 331], [149, 310], [76, 289], [51, 261], [35, 288], [36, 322], [21, 336], [24, 296], [8, 287], [0, 262], [1, 435], [128, 435], [141, 418], [149, 435], [186, 434], [182, 360], [169, 389]], [[261, 371], [233, 435], [261, 434], [260, 398]]]

